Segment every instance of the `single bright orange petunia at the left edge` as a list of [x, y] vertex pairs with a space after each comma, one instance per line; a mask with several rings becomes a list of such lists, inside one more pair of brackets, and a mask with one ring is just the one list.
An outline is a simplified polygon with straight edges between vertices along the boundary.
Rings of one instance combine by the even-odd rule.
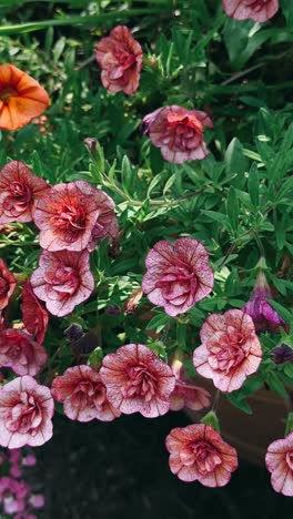
[[47, 110], [46, 90], [22, 70], [7, 63], [0, 65], [0, 129], [18, 130]]

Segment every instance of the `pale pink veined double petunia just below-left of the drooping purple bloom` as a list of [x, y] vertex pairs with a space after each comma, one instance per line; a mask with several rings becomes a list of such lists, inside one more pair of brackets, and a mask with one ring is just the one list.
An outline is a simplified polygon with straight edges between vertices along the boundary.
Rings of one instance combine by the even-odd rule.
[[243, 312], [231, 309], [223, 315], [210, 315], [200, 336], [202, 344], [194, 350], [193, 364], [221, 391], [239, 389], [259, 368], [261, 344], [252, 318]]

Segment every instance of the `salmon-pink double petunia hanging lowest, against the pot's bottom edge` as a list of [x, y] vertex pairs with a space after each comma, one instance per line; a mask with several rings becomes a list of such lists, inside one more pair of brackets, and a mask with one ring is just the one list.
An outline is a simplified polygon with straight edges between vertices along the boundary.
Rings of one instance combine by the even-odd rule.
[[171, 471], [182, 481], [224, 487], [238, 468], [236, 450], [204, 424], [172, 429], [165, 439]]

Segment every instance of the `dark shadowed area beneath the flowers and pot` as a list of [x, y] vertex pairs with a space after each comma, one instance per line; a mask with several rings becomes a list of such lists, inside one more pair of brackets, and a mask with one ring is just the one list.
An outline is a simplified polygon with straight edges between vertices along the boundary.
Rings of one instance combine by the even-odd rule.
[[289, 519], [292, 499], [276, 495], [265, 468], [241, 460], [230, 484], [209, 489], [169, 470], [164, 438], [189, 424], [183, 414], [156, 419], [122, 416], [111, 424], [54, 418], [54, 436], [39, 450], [46, 488], [42, 519]]

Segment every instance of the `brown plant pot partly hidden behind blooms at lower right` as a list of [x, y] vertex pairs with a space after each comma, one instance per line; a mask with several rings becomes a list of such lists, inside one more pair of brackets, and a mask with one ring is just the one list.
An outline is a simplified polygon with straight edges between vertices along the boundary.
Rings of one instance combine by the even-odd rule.
[[[201, 378], [198, 381], [199, 386], [211, 393], [213, 401], [216, 393], [213, 383], [206, 378]], [[234, 407], [221, 394], [216, 405], [221, 434], [229, 444], [238, 449], [240, 457], [264, 466], [267, 446], [275, 439], [284, 437], [287, 408], [280, 396], [263, 388], [247, 397], [247, 403], [251, 406], [252, 415]], [[186, 409], [186, 414], [194, 423], [200, 421], [205, 413], [206, 410]]]

